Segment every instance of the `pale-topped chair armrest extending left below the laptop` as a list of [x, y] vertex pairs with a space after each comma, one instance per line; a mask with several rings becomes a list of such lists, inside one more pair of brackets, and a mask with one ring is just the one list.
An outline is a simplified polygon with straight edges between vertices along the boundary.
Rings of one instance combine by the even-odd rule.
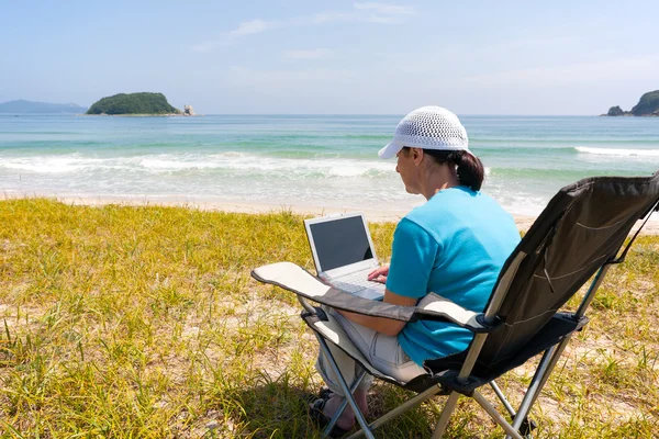
[[292, 262], [277, 262], [256, 268], [252, 270], [252, 277], [259, 282], [280, 286], [333, 308], [401, 322], [415, 319], [415, 306], [400, 306], [358, 297], [323, 283], [315, 275]]

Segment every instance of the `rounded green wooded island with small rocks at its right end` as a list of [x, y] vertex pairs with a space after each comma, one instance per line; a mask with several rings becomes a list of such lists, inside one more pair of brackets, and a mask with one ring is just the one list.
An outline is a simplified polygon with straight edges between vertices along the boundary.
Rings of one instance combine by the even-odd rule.
[[193, 116], [192, 106], [185, 111], [171, 106], [163, 93], [119, 93], [94, 102], [86, 114], [129, 116]]

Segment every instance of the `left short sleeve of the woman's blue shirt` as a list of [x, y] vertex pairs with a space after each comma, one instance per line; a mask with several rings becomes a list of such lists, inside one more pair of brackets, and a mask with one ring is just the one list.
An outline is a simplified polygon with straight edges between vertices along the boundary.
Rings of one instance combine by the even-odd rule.
[[423, 227], [403, 218], [393, 234], [387, 289], [405, 297], [423, 297], [439, 245]]

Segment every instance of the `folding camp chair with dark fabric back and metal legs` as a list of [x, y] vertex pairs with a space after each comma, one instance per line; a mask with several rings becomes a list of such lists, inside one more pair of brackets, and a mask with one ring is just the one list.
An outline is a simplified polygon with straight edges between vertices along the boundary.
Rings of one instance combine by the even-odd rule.
[[[463, 395], [483, 407], [505, 430], [506, 438], [520, 439], [530, 437], [535, 426], [527, 415], [533, 404], [572, 334], [588, 323], [585, 311], [606, 271], [625, 259], [640, 228], [621, 252], [625, 238], [638, 219], [646, 217], [647, 222], [651, 212], [658, 210], [659, 171], [649, 178], [589, 178], [561, 189], [506, 260], [483, 313], [461, 308], [434, 293], [417, 306], [396, 306], [360, 299], [322, 283], [290, 262], [260, 267], [252, 275], [260, 282], [298, 294], [304, 307], [302, 318], [315, 331], [321, 349], [347, 396], [344, 407], [350, 404], [361, 427], [350, 438], [361, 435], [373, 438], [372, 430], [394, 416], [429, 397], [448, 394], [434, 438], [443, 436], [458, 398]], [[578, 309], [560, 312], [593, 274]], [[402, 383], [370, 365], [334, 318], [308, 301], [402, 322], [451, 322], [470, 329], [474, 337], [465, 351], [426, 360], [426, 374]], [[368, 424], [349, 389], [350, 384], [356, 389], [358, 383], [346, 383], [340, 376], [327, 342], [351, 356], [367, 373], [417, 395]], [[539, 353], [543, 354], [539, 364], [515, 410], [494, 380]], [[512, 423], [479, 392], [479, 387], [488, 384], [509, 412]], [[332, 430], [337, 417], [338, 414], [327, 426], [325, 435]]]

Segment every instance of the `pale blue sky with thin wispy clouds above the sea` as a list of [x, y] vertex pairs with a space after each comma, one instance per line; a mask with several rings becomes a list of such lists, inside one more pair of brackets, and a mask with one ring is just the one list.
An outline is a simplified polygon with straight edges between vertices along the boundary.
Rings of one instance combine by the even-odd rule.
[[0, 102], [600, 114], [659, 89], [659, 1], [0, 0]]

